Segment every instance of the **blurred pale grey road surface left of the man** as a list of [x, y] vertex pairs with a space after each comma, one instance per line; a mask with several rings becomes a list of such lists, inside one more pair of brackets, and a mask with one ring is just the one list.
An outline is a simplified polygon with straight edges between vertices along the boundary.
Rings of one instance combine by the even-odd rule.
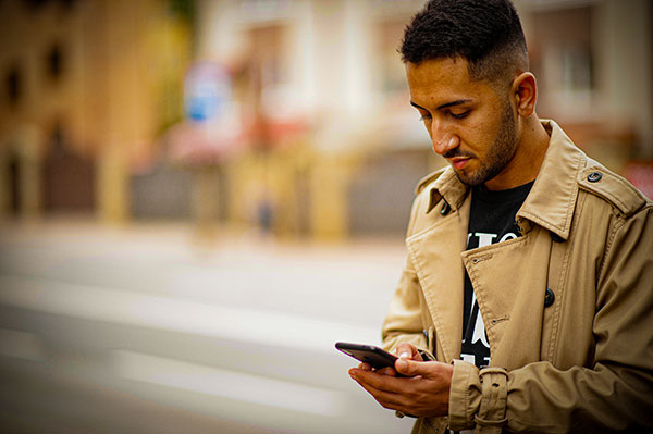
[[0, 426], [402, 433], [333, 344], [378, 344], [401, 239], [198, 241], [188, 227], [0, 227]]

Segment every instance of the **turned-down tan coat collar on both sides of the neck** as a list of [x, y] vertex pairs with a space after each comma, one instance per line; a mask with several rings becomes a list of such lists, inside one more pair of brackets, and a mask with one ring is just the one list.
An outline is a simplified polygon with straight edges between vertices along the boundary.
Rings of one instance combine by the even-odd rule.
[[[546, 120], [541, 122], [551, 137], [549, 148], [535, 183], [517, 212], [517, 222], [523, 233], [528, 232], [529, 222], [532, 222], [567, 239], [578, 196], [576, 176], [582, 169], [584, 154], [558, 124]], [[447, 168], [431, 184], [427, 212], [442, 198], [454, 209], [459, 209], [468, 189], [458, 181], [453, 169]]]

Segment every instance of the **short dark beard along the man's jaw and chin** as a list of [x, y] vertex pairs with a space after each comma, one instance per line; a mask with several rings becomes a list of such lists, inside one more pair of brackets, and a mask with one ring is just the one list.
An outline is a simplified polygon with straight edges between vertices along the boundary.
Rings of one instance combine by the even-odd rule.
[[[515, 121], [510, 103], [505, 101], [498, 132], [485, 154], [485, 160], [481, 160], [480, 166], [471, 173], [454, 169], [456, 176], [463, 184], [470, 187], [486, 183], [498, 175], [510, 162], [517, 149], [517, 122]], [[459, 154], [461, 156], [461, 152], [459, 152], [459, 148], [456, 148], [452, 149], [444, 157], [451, 158]]]

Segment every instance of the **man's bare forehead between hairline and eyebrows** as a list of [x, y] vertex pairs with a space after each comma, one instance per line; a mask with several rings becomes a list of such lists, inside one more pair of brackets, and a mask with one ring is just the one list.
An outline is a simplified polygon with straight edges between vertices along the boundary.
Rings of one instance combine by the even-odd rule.
[[467, 60], [463, 58], [407, 62], [406, 77], [411, 101], [422, 107], [491, 98], [494, 94], [488, 82], [470, 79]]

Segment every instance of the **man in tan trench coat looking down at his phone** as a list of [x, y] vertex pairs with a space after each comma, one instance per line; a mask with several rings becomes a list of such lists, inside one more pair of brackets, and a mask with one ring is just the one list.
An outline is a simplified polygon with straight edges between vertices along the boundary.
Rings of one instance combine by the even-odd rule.
[[432, 0], [401, 51], [451, 166], [412, 207], [383, 325], [401, 358], [349, 374], [418, 433], [649, 432], [653, 203], [538, 119], [509, 0]]

